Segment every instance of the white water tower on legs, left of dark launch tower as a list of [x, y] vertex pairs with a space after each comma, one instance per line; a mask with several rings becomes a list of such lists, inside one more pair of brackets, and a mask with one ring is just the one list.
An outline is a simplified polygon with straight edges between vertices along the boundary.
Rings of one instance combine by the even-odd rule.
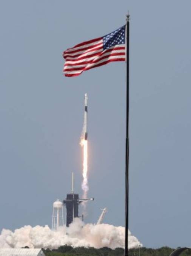
[[52, 210], [52, 229], [58, 229], [59, 226], [64, 226], [64, 216], [63, 216], [63, 203], [57, 199], [53, 203]]

